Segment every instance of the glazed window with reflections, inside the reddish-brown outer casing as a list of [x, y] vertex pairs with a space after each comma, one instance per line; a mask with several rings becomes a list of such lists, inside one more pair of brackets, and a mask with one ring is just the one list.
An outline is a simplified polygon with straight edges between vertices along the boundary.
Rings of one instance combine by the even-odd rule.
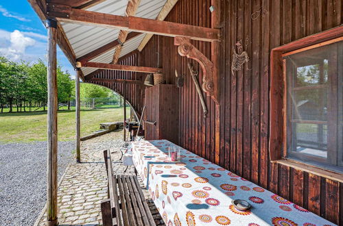
[[282, 55], [285, 158], [343, 172], [343, 41]]

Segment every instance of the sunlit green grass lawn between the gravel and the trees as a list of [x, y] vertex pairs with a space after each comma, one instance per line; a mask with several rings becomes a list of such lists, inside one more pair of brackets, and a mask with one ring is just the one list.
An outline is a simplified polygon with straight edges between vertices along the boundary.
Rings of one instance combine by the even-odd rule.
[[[127, 117], [130, 108], [127, 108]], [[81, 136], [99, 129], [99, 123], [123, 121], [123, 108], [81, 110]], [[31, 142], [47, 139], [47, 112], [0, 114], [0, 142]], [[58, 112], [58, 140], [75, 139], [75, 111]]]

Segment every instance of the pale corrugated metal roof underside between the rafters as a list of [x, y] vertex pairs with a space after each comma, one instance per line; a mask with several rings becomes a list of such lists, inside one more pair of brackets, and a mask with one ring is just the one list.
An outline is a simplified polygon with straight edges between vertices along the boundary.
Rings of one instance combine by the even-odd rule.
[[[136, 16], [154, 19], [163, 8], [167, 0], [141, 0]], [[88, 11], [102, 12], [124, 16], [128, 0], [107, 0], [91, 8]], [[76, 58], [80, 58], [86, 53], [90, 53], [99, 47], [102, 47], [118, 38], [119, 29], [109, 29], [104, 27], [93, 27], [87, 25], [75, 25], [71, 23], [62, 23], [66, 36], [71, 43]], [[119, 57], [126, 55], [139, 47], [144, 38], [144, 34], [136, 36], [123, 45]], [[113, 60], [115, 49], [111, 49], [102, 55], [91, 60], [92, 62], [110, 63]], [[96, 68], [82, 68], [84, 75], [88, 75]]]

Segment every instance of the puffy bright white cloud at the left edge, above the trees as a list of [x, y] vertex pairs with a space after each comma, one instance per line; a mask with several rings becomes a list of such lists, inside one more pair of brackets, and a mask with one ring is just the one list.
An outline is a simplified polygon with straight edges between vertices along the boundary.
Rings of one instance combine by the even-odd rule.
[[[8, 36], [8, 34], [10, 34]], [[7, 45], [3, 47], [3, 44], [0, 43], [0, 54], [5, 55], [13, 61], [19, 61], [25, 56], [25, 50], [27, 47], [32, 47], [36, 44], [36, 40], [25, 37], [22, 32], [14, 30], [14, 32], [6, 32], [0, 30], [0, 37], [7, 38]]]

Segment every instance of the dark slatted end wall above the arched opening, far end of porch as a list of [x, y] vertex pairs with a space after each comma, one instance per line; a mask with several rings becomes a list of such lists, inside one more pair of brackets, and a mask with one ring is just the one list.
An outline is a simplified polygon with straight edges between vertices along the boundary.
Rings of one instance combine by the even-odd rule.
[[[123, 65], [138, 65], [139, 55], [133, 54], [130, 57], [122, 60], [118, 64]], [[102, 79], [130, 79], [130, 80], [141, 80], [142, 75], [135, 72], [128, 72], [128, 71], [111, 71], [111, 70], [104, 70], [101, 73], [94, 76], [94, 78], [102, 78]], [[100, 86], [105, 86], [114, 90], [119, 95], [125, 95], [127, 101], [132, 105], [134, 110], [137, 111], [138, 114], [141, 114], [143, 110], [143, 96], [144, 96], [144, 88], [145, 86], [137, 85], [137, 84], [126, 84], [126, 88], [124, 88], [124, 84], [113, 84], [108, 82], [99, 82], [99, 81], [87, 81], [93, 84], [98, 84]]]

